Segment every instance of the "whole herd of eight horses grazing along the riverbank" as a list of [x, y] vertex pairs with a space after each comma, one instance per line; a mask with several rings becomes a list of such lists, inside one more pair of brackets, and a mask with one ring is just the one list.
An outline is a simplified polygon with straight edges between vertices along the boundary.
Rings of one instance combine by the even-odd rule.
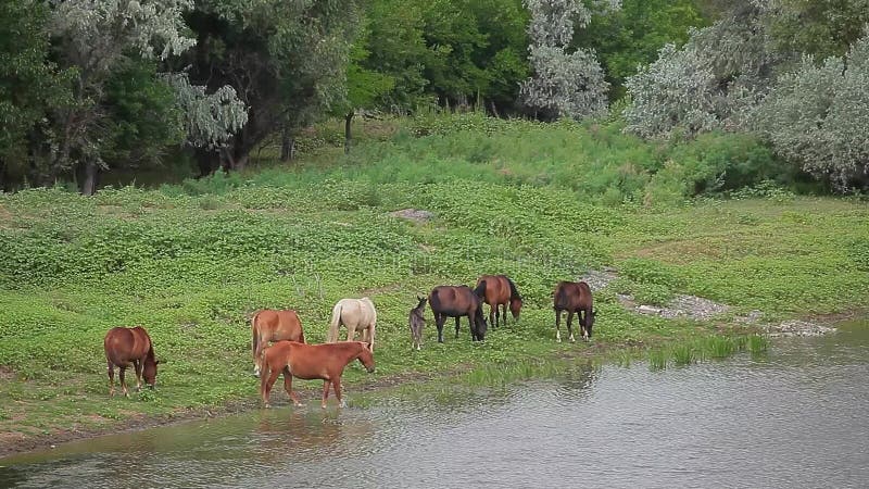
[[[473, 341], [486, 339], [489, 323], [493, 327], [506, 326], [507, 309], [515, 321], [519, 319], [522, 298], [516, 285], [505, 275], [483, 275], [471, 289], [467, 286], [438, 286], [427, 298], [417, 296], [418, 303], [410, 312], [407, 323], [413, 339], [413, 348], [423, 347], [423, 328], [426, 324], [424, 315], [426, 302], [431, 308], [434, 325], [438, 328], [438, 341], [443, 342], [443, 325], [448, 317], [455, 318], [455, 336], [458, 338], [459, 319], [467, 316]], [[483, 316], [482, 304], [489, 304], [489, 321]], [[570, 341], [575, 341], [571, 323], [574, 314], [579, 321], [580, 333], [584, 339], [591, 338], [596, 312], [593, 309], [591, 288], [584, 281], [559, 281], [553, 291], [553, 309], [555, 310], [555, 338], [562, 340], [562, 313], [567, 312], [567, 333]], [[503, 316], [503, 317], [502, 317]], [[251, 318], [253, 375], [260, 377], [260, 396], [268, 408], [268, 399], [280, 374], [284, 374], [284, 388], [295, 405], [301, 405], [292, 390], [292, 378], [323, 380], [322, 406], [326, 408], [329, 388], [341, 406], [341, 375], [344, 367], [358, 360], [368, 372], [374, 372], [374, 340], [377, 324], [377, 311], [368, 298], [341, 299], [332, 308], [332, 318], [326, 343], [308, 344], [299, 315], [293, 310], [263, 310]], [[348, 330], [347, 341], [338, 341], [340, 326]], [[354, 341], [356, 331], [361, 333], [361, 341]], [[273, 342], [270, 347], [269, 342]], [[118, 367], [118, 377], [124, 396], [129, 396], [124, 379], [125, 369], [133, 366], [136, 374], [136, 389], [141, 389], [142, 378], [146, 385], [153, 388], [156, 381], [156, 366], [160, 363], [154, 355], [154, 347], [144, 328], [116, 327], [106, 333], [103, 340], [109, 373], [109, 393], [114, 396], [114, 368]]]

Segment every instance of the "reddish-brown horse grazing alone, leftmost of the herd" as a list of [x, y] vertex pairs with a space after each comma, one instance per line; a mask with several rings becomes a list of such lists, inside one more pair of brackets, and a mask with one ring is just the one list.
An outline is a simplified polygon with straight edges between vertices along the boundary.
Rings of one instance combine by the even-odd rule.
[[109, 371], [109, 396], [115, 394], [115, 366], [117, 366], [118, 377], [121, 377], [124, 396], [129, 397], [127, 383], [124, 379], [124, 373], [128, 366], [133, 366], [136, 373], [136, 390], [141, 390], [142, 377], [149, 387], [154, 387], [156, 365], [160, 361], [154, 358], [154, 346], [144, 328], [140, 326], [112, 328], [105, 334], [102, 344]]

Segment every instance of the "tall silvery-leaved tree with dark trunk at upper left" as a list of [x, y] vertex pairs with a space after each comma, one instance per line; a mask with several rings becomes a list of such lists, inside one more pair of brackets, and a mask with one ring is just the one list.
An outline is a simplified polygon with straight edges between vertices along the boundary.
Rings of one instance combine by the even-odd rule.
[[[106, 147], [104, 141], [117, 141], [118, 135], [111, 134], [116, 126], [109, 122], [113, 115], [110, 105], [117, 109], [122, 102], [110, 102], [110, 82], [124, 76], [118, 72], [135, 71], [137, 59], [165, 60], [191, 47], [194, 40], [180, 34], [181, 11], [190, 5], [190, 0], [54, 2], [51, 30], [60, 39], [59, 60], [63, 67], [74, 71], [75, 77], [72, 103], [52, 111], [58, 146], [52, 166], [64, 170], [78, 165], [84, 174], [83, 193], [96, 191], [97, 174], [108, 167], [105, 151], [112, 145]], [[115, 88], [117, 92], [121, 86]], [[165, 138], [158, 139], [165, 142]]]

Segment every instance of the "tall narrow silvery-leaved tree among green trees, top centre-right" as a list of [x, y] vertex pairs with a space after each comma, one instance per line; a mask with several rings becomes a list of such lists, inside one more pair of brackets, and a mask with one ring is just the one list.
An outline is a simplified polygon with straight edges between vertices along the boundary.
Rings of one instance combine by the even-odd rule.
[[[606, 4], [617, 9], [619, 1]], [[545, 118], [581, 118], [604, 111], [609, 84], [594, 51], [568, 52], [575, 24], [588, 26], [591, 11], [579, 0], [526, 0], [526, 5], [531, 12], [528, 51], [534, 75], [521, 85], [525, 104]]]

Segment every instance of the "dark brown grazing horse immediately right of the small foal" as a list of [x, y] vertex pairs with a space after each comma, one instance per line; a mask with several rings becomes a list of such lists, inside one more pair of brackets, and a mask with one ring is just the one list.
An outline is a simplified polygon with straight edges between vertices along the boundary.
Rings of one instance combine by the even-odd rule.
[[458, 319], [468, 317], [470, 323], [471, 341], [486, 339], [489, 325], [482, 315], [482, 294], [486, 291], [486, 280], [476, 289], [468, 286], [438, 286], [431, 289], [428, 303], [434, 314], [434, 325], [438, 326], [438, 342], [443, 342], [443, 323], [446, 317], [455, 317], [455, 337], [458, 338]]

